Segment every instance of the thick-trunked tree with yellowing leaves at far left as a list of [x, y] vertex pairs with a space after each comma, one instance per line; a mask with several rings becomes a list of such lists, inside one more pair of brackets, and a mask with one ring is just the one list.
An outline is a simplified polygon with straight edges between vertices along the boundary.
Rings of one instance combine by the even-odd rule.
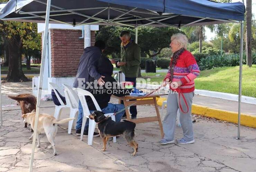
[[9, 51], [9, 69], [7, 82], [28, 81], [21, 65], [23, 42], [31, 39], [28, 32], [32, 30], [32, 23], [0, 21], [0, 35], [6, 39]]

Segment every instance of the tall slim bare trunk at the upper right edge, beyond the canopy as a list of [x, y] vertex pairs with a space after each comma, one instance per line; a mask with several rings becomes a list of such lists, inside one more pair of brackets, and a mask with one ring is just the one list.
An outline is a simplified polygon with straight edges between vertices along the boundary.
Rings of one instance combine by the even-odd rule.
[[246, 0], [246, 64], [252, 63], [252, 0]]

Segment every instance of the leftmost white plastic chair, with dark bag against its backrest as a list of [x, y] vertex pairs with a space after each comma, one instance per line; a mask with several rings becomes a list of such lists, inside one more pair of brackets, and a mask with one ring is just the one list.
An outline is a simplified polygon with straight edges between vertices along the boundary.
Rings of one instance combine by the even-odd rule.
[[55, 84], [55, 83], [49, 83], [49, 85], [50, 85], [51, 89], [54, 90], [54, 93], [55, 93], [57, 99], [59, 100], [59, 102], [60, 102], [60, 104], [61, 104], [60, 106], [55, 105], [55, 111], [54, 111], [54, 117], [55, 117], [56, 119], [60, 119], [60, 114], [61, 114], [62, 108], [69, 108], [69, 106], [68, 106], [68, 105], [65, 105], [65, 104], [63, 103], [62, 99], [60, 98], [60, 96], [58, 95], [58, 93], [57, 93], [57, 91], [56, 91], [56, 89], [57, 89], [58, 92], [61, 94], [61, 93], [62, 93], [61, 88], [60, 88], [57, 84]]

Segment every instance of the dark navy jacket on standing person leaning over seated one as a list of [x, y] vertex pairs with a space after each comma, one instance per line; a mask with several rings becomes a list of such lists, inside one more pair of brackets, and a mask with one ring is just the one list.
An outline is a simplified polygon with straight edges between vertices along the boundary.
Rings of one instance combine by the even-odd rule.
[[[97, 61], [101, 57], [101, 50], [96, 46], [86, 47], [84, 53], [80, 58], [78, 70], [76, 73], [75, 81], [73, 87], [78, 87], [77, 78], [84, 78], [85, 82], [89, 81], [89, 77], [93, 77], [98, 80], [101, 75], [97, 72], [96, 66]], [[86, 85], [85, 85], [86, 87]]]

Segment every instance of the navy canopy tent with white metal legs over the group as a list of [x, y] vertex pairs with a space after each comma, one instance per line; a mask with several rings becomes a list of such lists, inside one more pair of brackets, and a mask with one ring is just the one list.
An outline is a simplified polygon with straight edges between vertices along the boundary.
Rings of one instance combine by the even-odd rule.
[[[37, 133], [49, 22], [64, 23], [73, 26], [86, 24], [125, 25], [136, 28], [136, 35], [138, 31], [137, 28], [141, 26], [173, 26], [180, 28], [192, 25], [237, 22], [241, 23], [241, 33], [243, 33], [245, 6], [241, 2], [218, 3], [209, 0], [52, 1], [51, 3], [51, 0], [10, 0], [8, 3], [0, 4], [1, 20], [45, 22], [40, 82], [36, 105], [35, 134]], [[240, 40], [238, 139], [240, 137], [243, 34], [241, 34]], [[32, 171], [33, 167], [35, 142], [36, 136], [34, 135], [30, 171]]]

